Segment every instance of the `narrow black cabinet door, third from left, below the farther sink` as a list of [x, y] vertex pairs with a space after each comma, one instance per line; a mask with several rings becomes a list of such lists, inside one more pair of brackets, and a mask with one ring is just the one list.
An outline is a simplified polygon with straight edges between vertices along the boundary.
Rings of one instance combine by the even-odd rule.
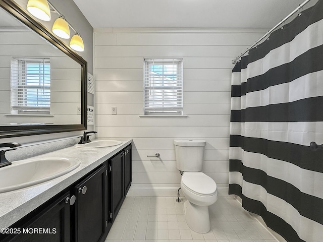
[[115, 220], [124, 200], [123, 156], [124, 152], [120, 152], [109, 160], [112, 221]]

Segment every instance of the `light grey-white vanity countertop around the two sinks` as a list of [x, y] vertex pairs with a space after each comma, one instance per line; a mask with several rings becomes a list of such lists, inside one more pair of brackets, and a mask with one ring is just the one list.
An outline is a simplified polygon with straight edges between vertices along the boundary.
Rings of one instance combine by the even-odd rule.
[[117, 140], [122, 141], [122, 144], [112, 147], [87, 149], [72, 146], [33, 157], [76, 158], [81, 164], [75, 170], [45, 183], [16, 191], [0, 193], [0, 228], [7, 228], [14, 224], [132, 142], [132, 139]]

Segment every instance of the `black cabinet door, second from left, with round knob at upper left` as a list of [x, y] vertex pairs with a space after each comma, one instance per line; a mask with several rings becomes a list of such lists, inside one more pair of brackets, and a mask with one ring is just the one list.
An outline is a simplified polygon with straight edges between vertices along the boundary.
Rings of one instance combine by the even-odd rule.
[[104, 241], [107, 227], [107, 169], [96, 169], [75, 187], [75, 241]]

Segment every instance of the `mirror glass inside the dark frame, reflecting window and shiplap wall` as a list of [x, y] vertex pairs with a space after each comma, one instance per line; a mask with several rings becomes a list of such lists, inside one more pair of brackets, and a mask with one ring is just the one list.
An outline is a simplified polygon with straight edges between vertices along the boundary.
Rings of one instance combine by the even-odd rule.
[[0, 13], [0, 20], [6, 19], [6, 27], [0, 23], [0, 125], [81, 124], [80, 63], [13, 16]]

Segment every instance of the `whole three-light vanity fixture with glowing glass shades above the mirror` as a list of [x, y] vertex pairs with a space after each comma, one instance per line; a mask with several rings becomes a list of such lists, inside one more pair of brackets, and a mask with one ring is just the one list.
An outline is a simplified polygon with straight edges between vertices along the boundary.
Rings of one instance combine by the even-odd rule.
[[[53, 9], [50, 10], [49, 6]], [[28, 12], [34, 17], [49, 21], [50, 12], [56, 12], [60, 17], [55, 20], [52, 26], [52, 32], [63, 39], [70, 38], [70, 28], [75, 32], [71, 41], [70, 47], [76, 51], [84, 51], [83, 39], [80, 36], [79, 32], [73, 28], [73, 26], [64, 18], [64, 16], [47, 0], [28, 0], [27, 4]]]

